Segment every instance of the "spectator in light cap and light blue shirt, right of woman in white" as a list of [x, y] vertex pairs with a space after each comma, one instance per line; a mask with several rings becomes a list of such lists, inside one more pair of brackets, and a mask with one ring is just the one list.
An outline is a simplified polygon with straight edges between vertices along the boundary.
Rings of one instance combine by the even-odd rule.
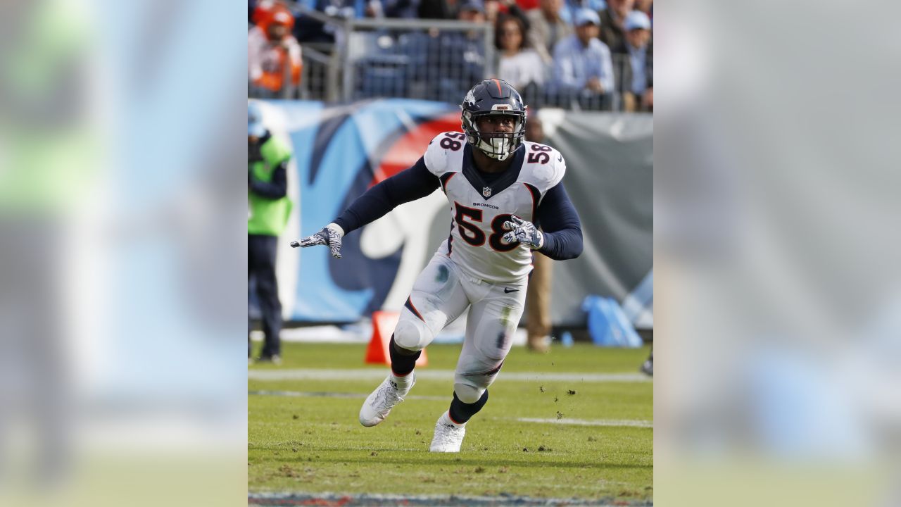
[[595, 11], [578, 11], [576, 33], [554, 47], [554, 76], [561, 90], [596, 95], [615, 91], [610, 49], [597, 39], [600, 23]]

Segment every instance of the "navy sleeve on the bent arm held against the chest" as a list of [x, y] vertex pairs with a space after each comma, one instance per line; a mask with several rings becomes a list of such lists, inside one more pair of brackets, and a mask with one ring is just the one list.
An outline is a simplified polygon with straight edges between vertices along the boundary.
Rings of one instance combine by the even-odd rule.
[[539, 252], [557, 261], [575, 259], [582, 253], [582, 223], [563, 183], [548, 190], [536, 215], [544, 235]]

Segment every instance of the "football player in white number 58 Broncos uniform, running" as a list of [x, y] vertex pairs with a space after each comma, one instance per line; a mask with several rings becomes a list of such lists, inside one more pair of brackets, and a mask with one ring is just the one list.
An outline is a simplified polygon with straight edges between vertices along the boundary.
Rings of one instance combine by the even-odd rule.
[[524, 141], [527, 111], [519, 93], [486, 79], [460, 107], [463, 132], [437, 135], [413, 167], [369, 189], [323, 230], [291, 243], [327, 245], [340, 258], [344, 235], [435, 189], [447, 196], [451, 232], [401, 310], [389, 346], [391, 372], [359, 410], [363, 426], [385, 420], [416, 382], [420, 351], [469, 311], [453, 400], [435, 424], [434, 452], [459, 452], [467, 421], [488, 400], [523, 315], [532, 251], [557, 260], [582, 252], [578, 214], [561, 182], [566, 162], [550, 146]]

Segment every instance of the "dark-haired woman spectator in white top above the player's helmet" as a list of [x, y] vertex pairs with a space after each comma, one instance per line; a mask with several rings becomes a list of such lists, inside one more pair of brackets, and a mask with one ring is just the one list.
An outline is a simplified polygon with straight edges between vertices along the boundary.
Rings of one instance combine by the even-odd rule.
[[544, 84], [544, 62], [537, 52], [526, 47], [522, 20], [511, 15], [501, 17], [495, 30], [495, 42], [500, 50], [498, 78], [519, 90], [531, 83]]

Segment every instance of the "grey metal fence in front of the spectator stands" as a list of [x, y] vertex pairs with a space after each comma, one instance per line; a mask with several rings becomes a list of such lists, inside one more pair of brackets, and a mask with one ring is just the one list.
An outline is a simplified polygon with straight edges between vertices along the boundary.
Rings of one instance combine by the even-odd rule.
[[[302, 43], [300, 88], [270, 97], [326, 102], [406, 97], [456, 104], [474, 83], [495, 75], [494, 27], [490, 23], [340, 19], [303, 7], [298, 11], [307, 20], [322, 23], [334, 42]], [[626, 55], [613, 55], [617, 90], [631, 88], [623, 78], [628, 60]], [[623, 110], [631, 100], [620, 91], [598, 95], [535, 84], [519, 91], [532, 107]]]

